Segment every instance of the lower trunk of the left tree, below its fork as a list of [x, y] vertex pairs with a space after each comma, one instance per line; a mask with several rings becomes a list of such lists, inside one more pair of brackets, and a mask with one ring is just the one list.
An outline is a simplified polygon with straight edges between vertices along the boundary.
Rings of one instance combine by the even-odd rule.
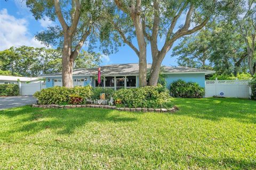
[[71, 36], [64, 36], [62, 48], [62, 86], [73, 87], [73, 64], [74, 59], [71, 52]]

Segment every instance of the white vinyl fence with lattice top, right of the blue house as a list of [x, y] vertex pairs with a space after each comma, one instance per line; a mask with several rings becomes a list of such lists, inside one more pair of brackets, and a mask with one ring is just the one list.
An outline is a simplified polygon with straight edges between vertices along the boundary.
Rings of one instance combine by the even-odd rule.
[[250, 80], [205, 80], [205, 98], [250, 98]]

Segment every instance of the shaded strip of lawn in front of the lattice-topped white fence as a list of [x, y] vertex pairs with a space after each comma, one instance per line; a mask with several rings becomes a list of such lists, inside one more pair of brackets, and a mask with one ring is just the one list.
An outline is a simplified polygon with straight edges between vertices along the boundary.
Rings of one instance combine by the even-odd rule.
[[235, 98], [174, 99], [180, 111], [177, 115], [186, 115], [199, 119], [218, 121], [233, 118], [238, 122], [256, 124], [256, 101]]

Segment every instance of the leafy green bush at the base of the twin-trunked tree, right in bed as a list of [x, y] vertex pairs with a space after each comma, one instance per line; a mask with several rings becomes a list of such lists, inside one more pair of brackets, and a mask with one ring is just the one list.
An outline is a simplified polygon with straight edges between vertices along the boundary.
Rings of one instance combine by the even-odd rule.
[[173, 106], [169, 90], [158, 84], [139, 88], [122, 88], [114, 94], [119, 106], [130, 108], [170, 108]]

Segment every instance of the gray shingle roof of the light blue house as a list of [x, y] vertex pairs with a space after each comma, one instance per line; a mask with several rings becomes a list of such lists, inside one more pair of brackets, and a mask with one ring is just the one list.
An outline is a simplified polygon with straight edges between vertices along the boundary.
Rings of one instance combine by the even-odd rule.
[[[125, 76], [125, 75], [139, 75], [139, 64], [138, 63], [128, 63], [128, 64], [110, 64], [107, 66], [101, 66], [101, 75], [102, 76]], [[147, 64], [147, 68], [151, 68], [151, 64]], [[213, 74], [215, 71], [198, 69], [198, 68], [189, 68], [189, 67], [169, 67], [163, 66], [165, 74], [180, 74], [180, 73], [204, 73], [204, 74]], [[74, 76], [79, 75], [97, 75], [98, 68], [90, 69], [75, 69], [73, 70]], [[47, 76], [61, 76], [61, 72], [43, 75]]]

